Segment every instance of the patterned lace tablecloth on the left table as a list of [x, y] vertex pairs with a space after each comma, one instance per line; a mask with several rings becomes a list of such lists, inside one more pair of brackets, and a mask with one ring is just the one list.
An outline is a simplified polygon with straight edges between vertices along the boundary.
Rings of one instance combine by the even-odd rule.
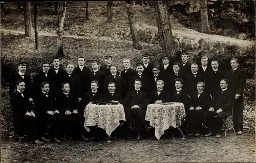
[[106, 131], [109, 136], [120, 125], [119, 121], [125, 121], [125, 113], [122, 104], [118, 105], [87, 105], [84, 109], [84, 127], [98, 126]]

